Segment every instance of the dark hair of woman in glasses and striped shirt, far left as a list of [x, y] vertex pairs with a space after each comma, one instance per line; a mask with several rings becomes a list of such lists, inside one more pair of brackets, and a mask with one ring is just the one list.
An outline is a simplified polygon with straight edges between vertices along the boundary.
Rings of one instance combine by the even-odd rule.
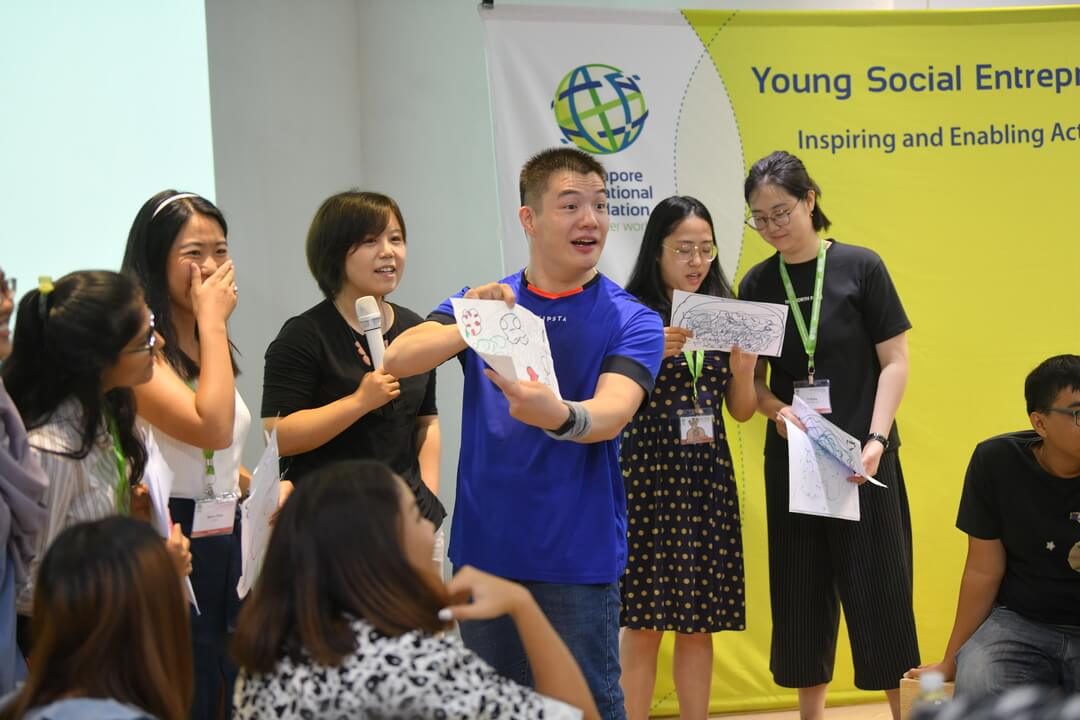
[[51, 293], [33, 288], [23, 296], [15, 320], [3, 382], [27, 427], [49, 422], [64, 400], [82, 407], [81, 445], [64, 452], [81, 460], [107, 431], [105, 413], [117, 423], [131, 483], [143, 477], [146, 446], [135, 432], [131, 388], [102, 390], [102, 375], [138, 332], [146, 331], [143, 293], [130, 277], [109, 270], [64, 275]]

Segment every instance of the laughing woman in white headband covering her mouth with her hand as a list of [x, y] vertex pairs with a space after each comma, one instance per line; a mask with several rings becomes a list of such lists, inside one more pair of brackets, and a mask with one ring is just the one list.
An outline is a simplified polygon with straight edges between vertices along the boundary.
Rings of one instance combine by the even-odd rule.
[[[241, 452], [251, 413], [235, 388], [227, 322], [237, 307], [228, 226], [208, 200], [165, 190], [135, 216], [123, 271], [138, 280], [164, 348], [136, 390], [174, 473], [170, 512], [192, 536], [192, 718], [230, 717], [237, 669], [226, 637], [239, 612]], [[222, 699], [224, 698], [224, 699]], [[222, 706], [224, 703], [224, 706]]]

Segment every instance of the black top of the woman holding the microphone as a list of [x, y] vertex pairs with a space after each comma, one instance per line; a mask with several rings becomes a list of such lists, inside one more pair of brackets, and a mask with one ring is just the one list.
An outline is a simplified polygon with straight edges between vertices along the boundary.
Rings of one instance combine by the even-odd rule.
[[[394, 323], [387, 342], [423, 322], [407, 308], [393, 304]], [[355, 342], [368, 352], [329, 300], [289, 318], [267, 348], [262, 376], [262, 417], [285, 417], [322, 407], [351, 394], [370, 370]], [[402, 378], [401, 395], [368, 412], [325, 445], [281, 459], [285, 477], [302, 481], [307, 473], [339, 460], [381, 460], [401, 475], [416, 493], [424, 517], [438, 526], [446, 516], [438, 498], [420, 479], [417, 459], [419, 416], [436, 415], [435, 372]]]

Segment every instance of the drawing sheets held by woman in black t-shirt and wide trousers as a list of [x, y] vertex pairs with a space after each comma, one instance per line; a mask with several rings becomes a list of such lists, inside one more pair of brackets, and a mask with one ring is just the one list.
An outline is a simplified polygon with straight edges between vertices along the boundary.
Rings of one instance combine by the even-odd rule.
[[807, 431], [802, 432], [784, 418], [787, 427], [788, 511], [859, 520], [859, 486], [848, 478], [861, 475], [867, 481], [885, 487], [866, 473], [862, 444], [798, 397], [794, 398], [792, 409]]

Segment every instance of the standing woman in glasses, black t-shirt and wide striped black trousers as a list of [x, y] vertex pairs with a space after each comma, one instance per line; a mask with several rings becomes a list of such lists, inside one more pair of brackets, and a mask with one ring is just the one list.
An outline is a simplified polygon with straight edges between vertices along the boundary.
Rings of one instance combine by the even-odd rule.
[[[798, 158], [759, 160], [744, 191], [747, 225], [777, 253], [751, 268], [739, 297], [786, 303], [793, 321], [783, 354], [768, 359], [768, 383], [764, 361], [755, 373], [758, 411], [774, 421], [765, 443], [773, 678], [798, 689], [801, 717], [823, 717], [842, 604], [855, 684], [885, 690], [899, 717], [900, 677], [919, 660], [894, 421], [912, 324], [877, 254], [820, 234], [829, 227], [821, 188]], [[859, 488], [861, 520], [788, 512], [785, 421], [801, 426], [794, 397], [863, 441], [863, 465], [887, 487]]]

